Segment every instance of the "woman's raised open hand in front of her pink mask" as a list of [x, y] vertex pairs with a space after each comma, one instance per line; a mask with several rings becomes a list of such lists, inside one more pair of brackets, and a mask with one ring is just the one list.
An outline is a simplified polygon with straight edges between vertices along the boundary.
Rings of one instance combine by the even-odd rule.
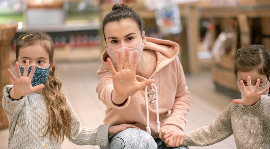
[[[117, 68], [115, 71], [111, 59], [107, 59], [107, 63], [113, 77], [113, 102], [115, 104], [123, 103], [129, 96], [134, 95], [137, 91], [143, 89], [147, 85], [154, 83], [153, 79], [148, 79], [143, 82], [139, 82], [136, 79], [136, 65], [137, 65], [137, 51], [134, 51], [130, 69], [129, 67], [129, 51], [125, 51], [124, 68], [122, 68], [122, 53], [118, 51]], [[115, 99], [114, 99], [115, 97]]]

